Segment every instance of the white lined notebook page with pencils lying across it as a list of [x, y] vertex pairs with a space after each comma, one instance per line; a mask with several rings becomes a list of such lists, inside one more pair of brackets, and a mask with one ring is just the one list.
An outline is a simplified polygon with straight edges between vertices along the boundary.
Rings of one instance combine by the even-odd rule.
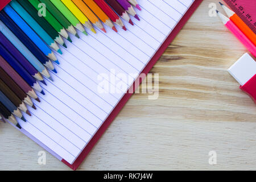
[[[38, 93], [37, 109], [20, 125], [50, 150], [73, 163], [93, 137], [135, 78], [154, 56], [192, 0], [139, 0], [141, 21], [134, 26], [123, 20], [127, 31], [118, 34], [106, 27], [88, 36], [79, 32], [73, 43], [65, 42], [57, 55], [53, 82], [41, 84], [46, 96]], [[105, 83], [105, 84], [102, 84]], [[108, 85], [108, 86], [106, 86]]]

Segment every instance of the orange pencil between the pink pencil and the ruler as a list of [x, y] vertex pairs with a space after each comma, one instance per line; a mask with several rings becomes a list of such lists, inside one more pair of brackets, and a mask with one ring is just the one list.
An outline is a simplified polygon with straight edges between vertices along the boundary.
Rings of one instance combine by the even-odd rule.
[[247, 36], [247, 38], [253, 42], [254, 46], [256, 46], [256, 34], [243, 22], [243, 20], [236, 14], [234, 11], [230, 10], [228, 7], [224, 6], [221, 2], [219, 2], [221, 7], [224, 9], [228, 18], [232, 20], [234, 24]]

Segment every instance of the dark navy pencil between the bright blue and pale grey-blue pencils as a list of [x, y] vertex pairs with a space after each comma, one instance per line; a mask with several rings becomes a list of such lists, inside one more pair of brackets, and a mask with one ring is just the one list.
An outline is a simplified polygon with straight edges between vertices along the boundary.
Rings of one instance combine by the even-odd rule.
[[20, 28], [10, 19], [5, 12], [0, 12], [0, 20], [13, 32], [13, 34], [26, 46], [32, 54], [47, 68], [51, 69], [53, 72], [56, 72], [56, 69], [52, 65], [51, 60], [48, 60], [46, 55], [28, 38], [28, 36], [20, 30]]

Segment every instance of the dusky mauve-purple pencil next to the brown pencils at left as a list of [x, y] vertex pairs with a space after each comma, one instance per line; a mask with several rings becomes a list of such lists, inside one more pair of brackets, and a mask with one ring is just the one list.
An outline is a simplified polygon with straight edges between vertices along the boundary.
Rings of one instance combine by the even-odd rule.
[[25, 80], [7, 63], [5, 59], [0, 55], [0, 67], [15, 81], [17, 85], [30, 97], [34, 98], [36, 101], [40, 102], [38, 96], [36, 95], [34, 89], [27, 84]]

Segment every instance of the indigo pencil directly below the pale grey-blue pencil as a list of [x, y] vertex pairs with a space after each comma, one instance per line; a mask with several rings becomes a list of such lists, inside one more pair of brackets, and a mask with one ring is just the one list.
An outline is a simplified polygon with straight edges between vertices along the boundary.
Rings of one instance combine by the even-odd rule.
[[39, 81], [44, 81], [41, 74], [28, 62], [26, 57], [24, 57], [22, 53], [20, 53], [18, 49], [11, 44], [11, 42], [2, 34], [2, 32], [0, 32], [0, 43], [4, 45], [6, 49], [10, 50], [10, 53], [16, 57], [16, 60], [18, 60], [20, 64], [24, 65], [24, 68], [28, 73], [30, 73], [31, 76]]

